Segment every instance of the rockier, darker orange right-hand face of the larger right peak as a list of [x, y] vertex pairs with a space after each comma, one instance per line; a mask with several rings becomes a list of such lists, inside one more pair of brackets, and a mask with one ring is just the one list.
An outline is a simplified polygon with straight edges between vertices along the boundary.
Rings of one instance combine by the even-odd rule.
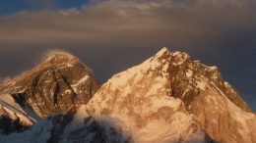
[[187, 111], [200, 120], [201, 128], [219, 142], [256, 141], [256, 117], [216, 67], [164, 49], [158, 61], [162, 58], [169, 60], [170, 96], [185, 103]]

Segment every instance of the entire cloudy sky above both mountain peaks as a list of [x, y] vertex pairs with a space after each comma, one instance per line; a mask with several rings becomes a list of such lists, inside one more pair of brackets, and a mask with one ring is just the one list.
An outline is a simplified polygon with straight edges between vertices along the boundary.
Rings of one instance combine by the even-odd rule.
[[0, 78], [64, 49], [104, 82], [161, 47], [223, 73], [256, 111], [255, 0], [0, 0]]

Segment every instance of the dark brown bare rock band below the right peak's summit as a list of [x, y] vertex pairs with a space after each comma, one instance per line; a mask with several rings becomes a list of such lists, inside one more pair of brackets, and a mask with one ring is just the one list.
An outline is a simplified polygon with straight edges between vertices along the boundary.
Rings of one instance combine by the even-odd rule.
[[[164, 51], [164, 50], [163, 50]], [[231, 87], [229, 83], [224, 81], [217, 67], [207, 67], [198, 61], [190, 59], [189, 55], [181, 52], [163, 52], [158, 61], [167, 58], [170, 61], [169, 74], [171, 82], [171, 91], [173, 97], [179, 97], [186, 106], [190, 105], [201, 92], [208, 88], [206, 84], [212, 88], [217, 88], [236, 106], [246, 112], [250, 109], [241, 99], [239, 94]]]

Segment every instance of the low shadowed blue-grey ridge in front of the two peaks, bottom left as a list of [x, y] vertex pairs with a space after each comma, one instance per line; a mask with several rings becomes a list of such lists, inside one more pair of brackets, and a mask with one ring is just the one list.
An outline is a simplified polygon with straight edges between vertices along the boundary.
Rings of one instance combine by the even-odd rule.
[[[117, 131], [116, 131], [117, 132]], [[1, 135], [1, 143], [118, 143], [109, 139], [96, 119], [88, 115], [85, 106], [71, 109], [66, 115], [53, 115], [32, 125], [22, 133]], [[120, 137], [121, 138], [121, 137]]]

